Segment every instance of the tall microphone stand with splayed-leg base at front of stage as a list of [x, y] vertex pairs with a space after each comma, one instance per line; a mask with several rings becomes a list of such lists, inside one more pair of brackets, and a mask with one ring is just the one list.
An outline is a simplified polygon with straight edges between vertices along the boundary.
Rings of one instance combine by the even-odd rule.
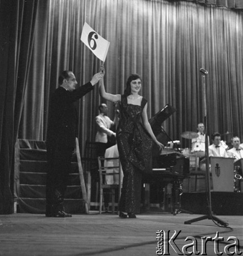
[[227, 222], [224, 222], [213, 215], [212, 213], [212, 205], [211, 205], [211, 190], [210, 190], [210, 172], [209, 172], [209, 144], [208, 144], [208, 121], [207, 121], [207, 91], [206, 91], [206, 79], [205, 75], [208, 74], [208, 71], [205, 69], [200, 69], [200, 73], [202, 74], [202, 88], [203, 88], [203, 95], [204, 95], [204, 122], [205, 122], [205, 158], [206, 158], [206, 193], [207, 193], [207, 202], [208, 202], [208, 215], [204, 215], [189, 221], [185, 221], [184, 224], [191, 224], [196, 221], [211, 219], [216, 221], [217, 223], [221, 224], [222, 226], [228, 226]]

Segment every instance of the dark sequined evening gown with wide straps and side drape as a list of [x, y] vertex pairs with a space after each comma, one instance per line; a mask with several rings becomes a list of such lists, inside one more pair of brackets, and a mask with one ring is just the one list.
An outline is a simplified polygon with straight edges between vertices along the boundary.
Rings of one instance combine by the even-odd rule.
[[141, 178], [152, 170], [152, 139], [141, 121], [141, 113], [147, 100], [141, 105], [127, 103], [122, 95], [120, 120], [116, 131], [117, 146], [124, 178], [119, 211], [140, 212]]

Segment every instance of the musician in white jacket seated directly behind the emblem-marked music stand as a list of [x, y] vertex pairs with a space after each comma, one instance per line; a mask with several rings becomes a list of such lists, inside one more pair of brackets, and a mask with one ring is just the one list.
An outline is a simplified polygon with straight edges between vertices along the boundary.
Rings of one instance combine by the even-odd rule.
[[220, 133], [212, 135], [212, 142], [213, 144], [209, 146], [209, 157], [229, 157], [225, 147], [221, 144]]

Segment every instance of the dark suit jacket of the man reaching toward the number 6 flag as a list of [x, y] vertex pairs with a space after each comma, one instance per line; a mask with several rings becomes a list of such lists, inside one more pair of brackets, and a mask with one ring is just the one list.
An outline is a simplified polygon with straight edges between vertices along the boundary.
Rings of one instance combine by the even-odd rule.
[[74, 102], [92, 89], [92, 84], [88, 82], [72, 92], [63, 87], [55, 90], [49, 106], [47, 145], [75, 147], [78, 117]]

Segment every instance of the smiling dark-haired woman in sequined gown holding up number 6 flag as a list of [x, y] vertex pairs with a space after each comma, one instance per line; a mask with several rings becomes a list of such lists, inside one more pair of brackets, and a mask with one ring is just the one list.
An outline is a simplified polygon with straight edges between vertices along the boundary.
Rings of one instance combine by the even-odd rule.
[[[104, 72], [104, 67], [102, 66]], [[141, 198], [141, 177], [152, 169], [152, 140], [160, 150], [164, 147], [154, 136], [147, 116], [147, 100], [138, 95], [141, 78], [132, 74], [127, 80], [124, 95], [106, 93], [104, 80], [99, 92], [104, 99], [120, 102], [120, 119], [116, 140], [124, 178], [119, 200], [119, 217], [136, 218]]]

